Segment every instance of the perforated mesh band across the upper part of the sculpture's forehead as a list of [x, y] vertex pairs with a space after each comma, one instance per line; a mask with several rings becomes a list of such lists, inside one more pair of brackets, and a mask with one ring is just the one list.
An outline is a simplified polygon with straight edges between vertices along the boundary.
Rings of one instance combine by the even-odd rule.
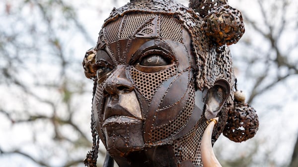
[[102, 29], [107, 43], [132, 38], [161, 38], [182, 42], [182, 23], [172, 15], [127, 13]]

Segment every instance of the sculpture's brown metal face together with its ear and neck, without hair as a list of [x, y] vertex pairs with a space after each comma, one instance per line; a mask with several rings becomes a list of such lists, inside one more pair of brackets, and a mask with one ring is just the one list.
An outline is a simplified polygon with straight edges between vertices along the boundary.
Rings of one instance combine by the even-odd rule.
[[[222, 79], [210, 89], [198, 89], [195, 57], [189, 32], [172, 16], [130, 13], [102, 28], [93, 66], [92, 117], [119, 165], [159, 167], [172, 158], [174, 164], [165, 167], [175, 167], [185, 161], [176, 156], [188, 154], [179, 145], [191, 147], [192, 140], [197, 144], [189, 151], [199, 159], [206, 120], [221, 111], [230, 88]], [[136, 161], [138, 156], [147, 158]]]

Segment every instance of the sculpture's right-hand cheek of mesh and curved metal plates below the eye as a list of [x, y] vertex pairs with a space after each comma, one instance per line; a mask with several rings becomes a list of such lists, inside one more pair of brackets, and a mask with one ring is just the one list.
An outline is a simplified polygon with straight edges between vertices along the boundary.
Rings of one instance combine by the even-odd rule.
[[160, 141], [179, 131], [194, 108], [192, 73], [178, 73], [176, 67], [156, 73], [144, 73], [134, 67], [130, 70], [137, 91], [149, 104], [144, 110], [144, 140]]

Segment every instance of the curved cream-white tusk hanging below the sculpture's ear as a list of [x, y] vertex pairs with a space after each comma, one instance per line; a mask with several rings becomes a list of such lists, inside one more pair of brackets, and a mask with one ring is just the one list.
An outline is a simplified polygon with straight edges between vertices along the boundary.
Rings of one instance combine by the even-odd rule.
[[203, 167], [222, 167], [220, 162], [215, 157], [211, 143], [212, 131], [214, 125], [218, 122], [218, 120], [218, 117], [211, 119], [209, 125], [205, 129], [205, 132], [201, 140], [201, 156]]

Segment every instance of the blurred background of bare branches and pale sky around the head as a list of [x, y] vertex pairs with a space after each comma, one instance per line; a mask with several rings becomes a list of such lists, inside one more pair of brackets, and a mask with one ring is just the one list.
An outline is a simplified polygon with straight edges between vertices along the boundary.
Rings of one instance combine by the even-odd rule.
[[[129, 0], [0, 1], [0, 167], [83, 167], [92, 81], [81, 65]], [[179, 2], [188, 5], [187, 0]], [[229, 0], [246, 32], [231, 54], [257, 135], [214, 148], [223, 167], [298, 167], [298, 1]], [[98, 167], [105, 155], [101, 144]]]

